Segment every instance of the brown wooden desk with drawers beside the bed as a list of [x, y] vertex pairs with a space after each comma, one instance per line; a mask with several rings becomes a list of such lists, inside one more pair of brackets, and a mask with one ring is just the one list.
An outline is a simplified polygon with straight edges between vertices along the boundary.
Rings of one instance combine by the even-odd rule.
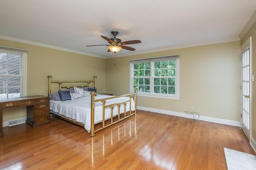
[[50, 98], [47, 96], [27, 96], [21, 98], [0, 99], [0, 137], [3, 132], [3, 109], [13, 107], [27, 107], [26, 123], [32, 128], [50, 123]]

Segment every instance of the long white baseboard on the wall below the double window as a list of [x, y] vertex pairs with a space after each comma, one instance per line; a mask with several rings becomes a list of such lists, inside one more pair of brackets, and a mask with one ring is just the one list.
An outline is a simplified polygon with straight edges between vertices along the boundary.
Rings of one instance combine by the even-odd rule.
[[[141, 106], [137, 106], [137, 109], [145, 110], [145, 111], [152, 111], [152, 112], [156, 112], [156, 113], [162, 113], [162, 114], [166, 114], [166, 115], [174, 115], [174, 116], [180, 116], [180, 117], [194, 119], [193, 115], [188, 115], [186, 113], [180, 113], [180, 112], [176, 112], [176, 111], [168, 111], [168, 110], [154, 109], [154, 108], [141, 107]], [[195, 117], [195, 119], [198, 119], [198, 115], [194, 115], [194, 117]], [[214, 117], [206, 117], [206, 116], [201, 116], [201, 115], [199, 116], [199, 120], [240, 127], [240, 121], [218, 119], [218, 118], [214, 118]]]

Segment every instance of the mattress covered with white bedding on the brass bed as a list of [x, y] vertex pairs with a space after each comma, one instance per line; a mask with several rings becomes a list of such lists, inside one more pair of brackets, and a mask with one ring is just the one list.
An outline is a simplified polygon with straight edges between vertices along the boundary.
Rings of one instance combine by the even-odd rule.
[[[95, 100], [109, 98], [108, 95], [97, 94]], [[109, 104], [114, 104], [122, 101], [129, 100], [129, 97], [120, 97], [110, 100], [106, 100], [105, 106]], [[131, 110], [135, 110], [134, 101], [132, 99]], [[126, 111], [130, 111], [130, 102], [126, 104]], [[66, 117], [72, 118], [77, 122], [84, 123], [84, 128], [88, 133], [90, 133], [91, 126], [91, 98], [84, 97], [76, 100], [66, 100], [66, 101], [54, 101], [50, 100], [50, 112], [57, 115], [64, 115]], [[120, 106], [120, 113], [124, 112], [124, 104]], [[118, 115], [118, 106], [114, 105], [113, 117]], [[105, 109], [105, 120], [111, 117], [111, 110], [109, 107]], [[102, 102], [94, 103], [94, 123], [102, 122]]]

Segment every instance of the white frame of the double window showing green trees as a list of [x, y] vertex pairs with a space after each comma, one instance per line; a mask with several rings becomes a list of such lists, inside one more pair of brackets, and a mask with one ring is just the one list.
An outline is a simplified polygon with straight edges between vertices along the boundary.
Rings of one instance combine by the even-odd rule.
[[[156, 61], [166, 61], [166, 60], [176, 60], [176, 76], [175, 76], [175, 94], [158, 94], [154, 93], [154, 62]], [[133, 78], [134, 78], [134, 63], [145, 63], [150, 62], [150, 93], [147, 92], [137, 92], [137, 96], [153, 97], [153, 98], [166, 98], [179, 100], [180, 98], [180, 59], [179, 55], [162, 56], [162, 57], [152, 57], [147, 59], [136, 59], [130, 60], [130, 92], [134, 92], [133, 88]], [[161, 78], [161, 77], [159, 77]]]

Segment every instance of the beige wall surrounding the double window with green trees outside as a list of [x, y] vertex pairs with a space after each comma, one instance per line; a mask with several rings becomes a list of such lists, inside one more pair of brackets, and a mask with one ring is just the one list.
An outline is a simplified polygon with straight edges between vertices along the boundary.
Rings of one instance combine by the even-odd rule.
[[180, 100], [138, 96], [138, 106], [240, 121], [240, 41], [106, 60], [106, 89], [129, 93], [131, 59], [180, 54]]

